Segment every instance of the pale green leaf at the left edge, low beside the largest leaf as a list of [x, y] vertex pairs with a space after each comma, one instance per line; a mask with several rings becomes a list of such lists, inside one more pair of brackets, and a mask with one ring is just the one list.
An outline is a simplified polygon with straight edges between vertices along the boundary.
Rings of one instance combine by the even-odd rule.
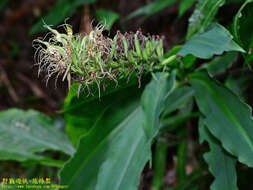
[[[60, 162], [35, 153], [45, 150], [72, 155], [75, 149], [49, 117], [34, 111], [9, 109], [0, 113], [0, 159], [39, 160], [49, 165]], [[50, 164], [51, 163], [51, 164]]]

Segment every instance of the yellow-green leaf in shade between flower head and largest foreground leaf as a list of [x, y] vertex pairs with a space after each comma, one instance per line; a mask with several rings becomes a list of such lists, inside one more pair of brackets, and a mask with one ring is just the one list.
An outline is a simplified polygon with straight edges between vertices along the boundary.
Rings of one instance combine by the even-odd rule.
[[[75, 89], [73, 88], [72, 90], [74, 93]], [[96, 122], [103, 117], [103, 114], [112, 105], [112, 100], [117, 99], [117, 101], [125, 101], [126, 95], [129, 93], [133, 94], [133, 91], [140, 93], [140, 89], [134, 86], [133, 88], [126, 88], [112, 93], [110, 96], [103, 96], [100, 100], [88, 100], [87, 98], [78, 98], [74, 95], [71, 102], [68, 105], [66, 103], [66, 110], [64, 112], [66, 131], [73, 144], [77, 146], [79, 138], [88, 133]], [[69, 98], [73, 93], [69, 93]]]

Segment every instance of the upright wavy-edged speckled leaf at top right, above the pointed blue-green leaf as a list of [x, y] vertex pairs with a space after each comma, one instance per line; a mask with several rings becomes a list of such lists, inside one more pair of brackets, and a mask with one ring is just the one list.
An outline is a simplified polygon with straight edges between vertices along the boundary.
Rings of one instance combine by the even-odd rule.
[[225, 0], [198, 0], [196, 8], [189, 19], [187, 39], [195, 33], [204, 32], [224, 3]]

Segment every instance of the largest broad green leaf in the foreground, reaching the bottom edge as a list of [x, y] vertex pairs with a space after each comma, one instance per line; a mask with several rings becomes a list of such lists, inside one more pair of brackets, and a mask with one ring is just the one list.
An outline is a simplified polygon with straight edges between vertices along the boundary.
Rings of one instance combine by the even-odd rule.
[[[162, 99], [160, 96], [164, 97], [168, 92], [163, 94], [153, 90], [158, 88], [155, 85], [163, 87], [168, 81], [164, 80], [166, 75], [157, 74], [155, 77], [145, 89], [143, 97], [147, 97], [146, 94], [159, 96], [149, 101], [149, 108], [152, 112], [160, 113], [158, 109], [153, 110], [157, 108], [154, 105], [159, 105], [157, 101]], [[82, 136], [76, 154], [60, 173], [61, 184], [75, 190], [137, 189], [139, 175], [150, 158], [152, 138], [159, 128], [156, 126], [155, 130], [154, 123], [148, 123], [148, 130], [148, 126], [143, 124], [146, 113], [140, 105], [140, 96], [131, 93], [121, 93], [121, 96], [124, 98], [120, 101], [111, 99], [108, 109], [89, 133]], [[144, 126], [148, 130], [146, 133]], [[146, 134], [151, 138], [147, 138]]]

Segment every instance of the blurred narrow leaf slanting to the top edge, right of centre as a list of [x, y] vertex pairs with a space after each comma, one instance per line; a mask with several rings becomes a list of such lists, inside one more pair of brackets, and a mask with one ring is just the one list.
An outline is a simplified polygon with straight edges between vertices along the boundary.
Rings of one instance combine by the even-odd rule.
[[147, 19], [149, 16], [165, 9], [166, 7], [172, 5], [173, 3], [177, 2], [177, 0], [157, 0], [151, 2], [134, 12], [130, 13], [123, 21], [132, 19], [136, 16], [145, 15], [144, 19]]

